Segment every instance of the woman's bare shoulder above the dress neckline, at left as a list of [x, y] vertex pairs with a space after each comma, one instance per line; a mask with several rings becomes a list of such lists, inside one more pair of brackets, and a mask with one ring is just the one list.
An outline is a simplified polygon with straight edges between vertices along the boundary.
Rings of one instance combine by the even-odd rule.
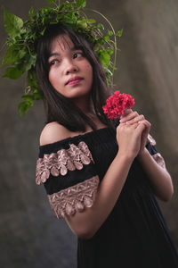
[[40, 146], [69, 138], [71, 132], [56, 121], [50, 122], [44, 126], [41, 132], [39, 143]]

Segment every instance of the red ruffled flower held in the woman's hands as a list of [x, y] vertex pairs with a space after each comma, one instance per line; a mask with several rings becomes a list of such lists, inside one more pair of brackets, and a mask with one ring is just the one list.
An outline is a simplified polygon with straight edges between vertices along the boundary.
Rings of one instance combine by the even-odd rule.
[[106, 100], [106, 105], [102, 106], [104, 113], [108, 113], [109, 119], [121, 116], [125, 109], [130, 109], [134, 105], [134, 98], [129, 94], [120, 93], [119, 90], [115, 91], [112, 96]]

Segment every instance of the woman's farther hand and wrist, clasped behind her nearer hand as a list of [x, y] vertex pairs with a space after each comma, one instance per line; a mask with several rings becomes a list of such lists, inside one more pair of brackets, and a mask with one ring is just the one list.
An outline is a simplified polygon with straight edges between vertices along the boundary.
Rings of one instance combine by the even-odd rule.
[[125, 110], [125, 113], [120, 117], [120, 123], [125, 123], [126, 125], [132, 124], [144, 124], [144, 130], [142, 130], [141, 147], [138, 155], [142, 155], [144, 148], [147, 144], [147, 138], [150, 133], [151, 124], [149, 121], [145, 120], [144, 115], [139, 115], [137, 112], [133, 112], [131, 109]]

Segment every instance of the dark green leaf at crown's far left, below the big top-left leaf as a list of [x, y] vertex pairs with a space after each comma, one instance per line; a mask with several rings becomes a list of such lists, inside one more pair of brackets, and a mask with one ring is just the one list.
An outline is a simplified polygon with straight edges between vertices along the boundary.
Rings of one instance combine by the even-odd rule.
[[4, 54], [2, 65], [18, 62], [25, 54], [26, 51], [19, 46], [10, 46]]

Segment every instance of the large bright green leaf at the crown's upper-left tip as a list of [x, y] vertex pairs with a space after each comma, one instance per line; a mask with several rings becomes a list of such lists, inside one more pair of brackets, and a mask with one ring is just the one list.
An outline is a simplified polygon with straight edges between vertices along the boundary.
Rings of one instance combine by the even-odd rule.
[[20, 36], [20, 30], [23, 27], [23, 21], [20, 17], [8, 12], [4, 8], [4, 28], [6, 33], [11, 37], [15, 38]]

